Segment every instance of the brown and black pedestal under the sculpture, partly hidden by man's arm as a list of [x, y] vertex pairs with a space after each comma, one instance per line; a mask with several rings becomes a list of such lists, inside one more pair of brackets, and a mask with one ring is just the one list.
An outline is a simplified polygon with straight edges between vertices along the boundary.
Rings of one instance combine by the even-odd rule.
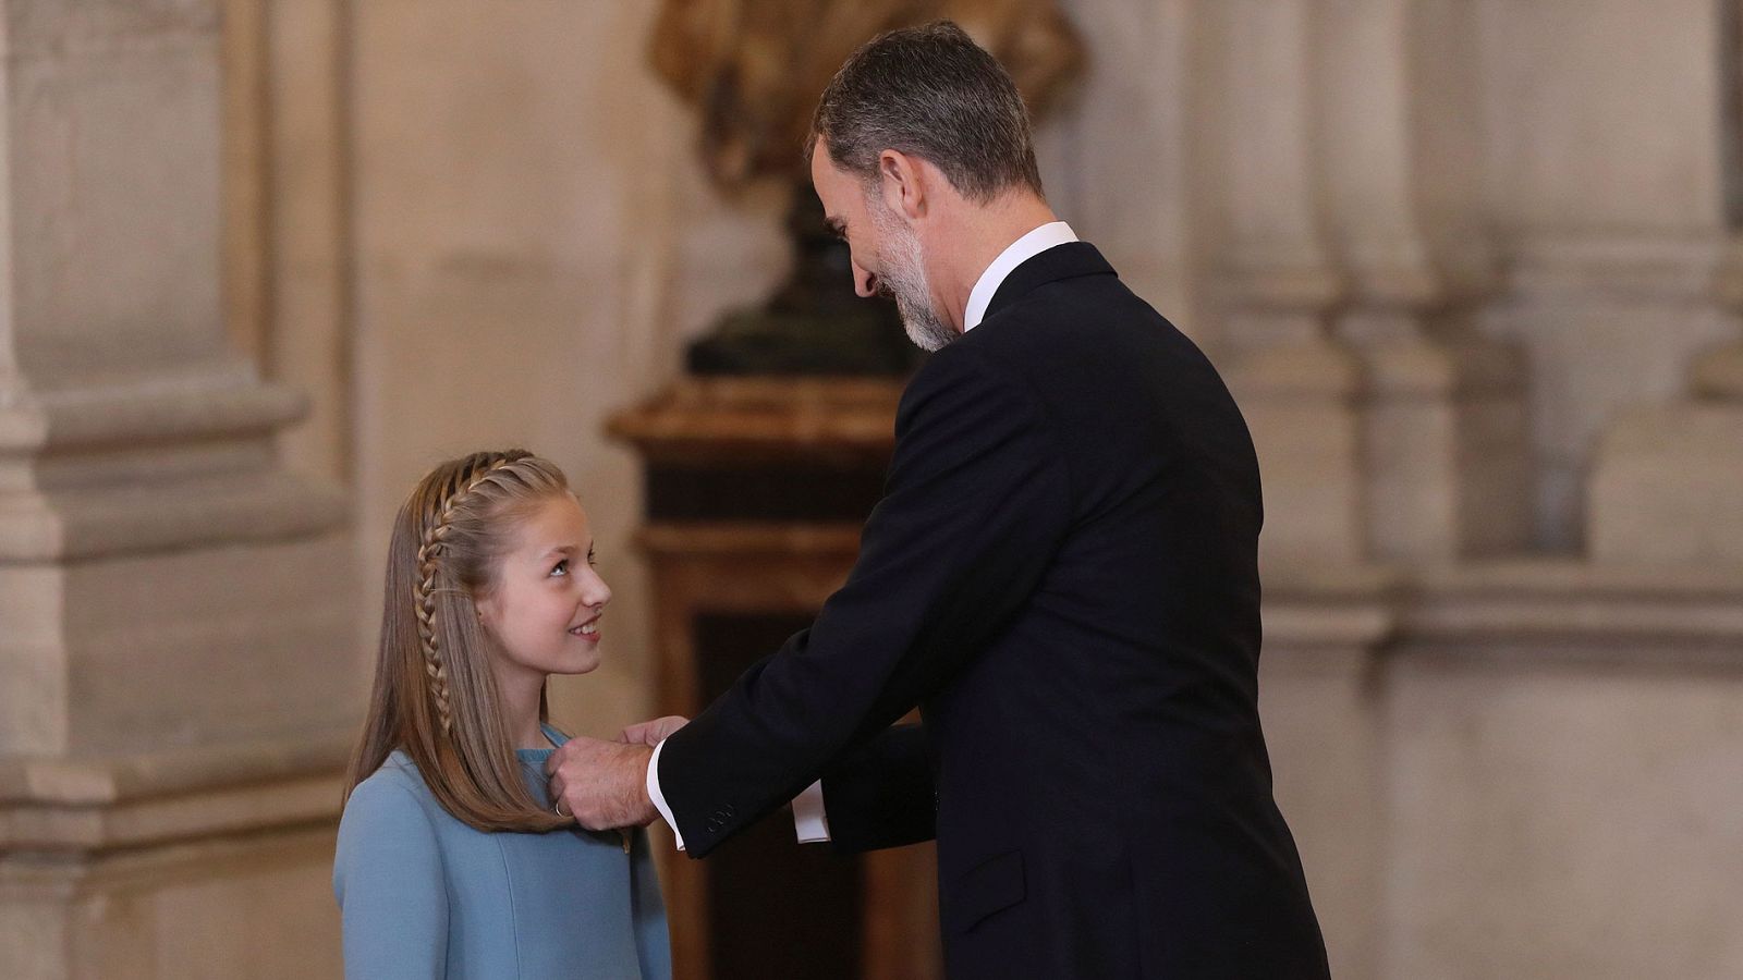
[[[617, 417], [647, 467], [661, 713], [694, 715], [847, 577], [889, 464], [894, 380], [690, 378]], [[933, 847], [838, 858], [779, 811], [666, 863], [680, 980], [941, 975]]]

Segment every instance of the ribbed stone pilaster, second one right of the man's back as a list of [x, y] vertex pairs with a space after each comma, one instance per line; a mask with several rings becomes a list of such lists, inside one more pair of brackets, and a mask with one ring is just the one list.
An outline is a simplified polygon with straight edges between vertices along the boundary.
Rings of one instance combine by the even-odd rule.
[[1321, 10], [1318, 146], [1349, 282], [1337, 335], [1367, 375], [1368, 551], [1448, 561], [1518, 549], [1530, 537], [1522, 359], [1475, 330], [1494, 284], [1476, 220], [1475, 7]]

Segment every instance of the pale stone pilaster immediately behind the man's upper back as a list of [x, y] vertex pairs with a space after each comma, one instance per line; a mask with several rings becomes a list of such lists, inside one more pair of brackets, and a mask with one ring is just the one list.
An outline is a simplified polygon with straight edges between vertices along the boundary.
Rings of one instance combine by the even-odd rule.
[[[1210, 14], [1210, 12], [1208, 12]], [[1267, 563], [1353, 563], [1361, 527], [1360, 364], [1326, 331], [1342, 281], [1321, 227], [1307, 3], [1231, 0], [1217, 85], [1225, 220], [1215, 270], [1229, 387], [1265, 480]]]

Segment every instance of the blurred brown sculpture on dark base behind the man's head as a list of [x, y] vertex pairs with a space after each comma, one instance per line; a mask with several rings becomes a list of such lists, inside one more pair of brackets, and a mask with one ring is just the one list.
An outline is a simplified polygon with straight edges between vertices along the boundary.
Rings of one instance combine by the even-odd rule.
[[666, 0], [655, 71], [702, 117], [701, 155], [722, 190], [793, 183], [798, 262], [765, 309], [729, 314], [690, 349], [695, 373], [903, 373], [915, 352], [885, 303], [854, 300], [847, 248], [823, 228], [804, 166], [817, 96], [880, 31], [950, 17], [1016, 78], [1030, 112], [1082, 49], [1053, 0]]

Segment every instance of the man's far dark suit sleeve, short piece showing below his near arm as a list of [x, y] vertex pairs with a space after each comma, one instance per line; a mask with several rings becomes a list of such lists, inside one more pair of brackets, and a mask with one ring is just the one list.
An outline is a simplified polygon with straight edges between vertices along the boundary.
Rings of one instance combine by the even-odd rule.
[[896, 725], [823, 771], [830, 846], [840, 853], [901, 847], [938, 832], [926, 729]]

